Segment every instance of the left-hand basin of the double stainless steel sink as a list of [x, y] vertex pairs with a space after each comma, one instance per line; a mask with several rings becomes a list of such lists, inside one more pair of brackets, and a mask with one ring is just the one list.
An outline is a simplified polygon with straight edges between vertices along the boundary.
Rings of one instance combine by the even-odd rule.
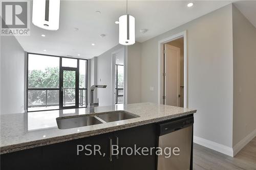
[[100, 120], [98, 120], [94, 116], [89, 115], [81, 115], [76, 117], [58, 117], [56, 118], [56, 120], [59, 129], [70, 129], [82, 126], [102, 124]]

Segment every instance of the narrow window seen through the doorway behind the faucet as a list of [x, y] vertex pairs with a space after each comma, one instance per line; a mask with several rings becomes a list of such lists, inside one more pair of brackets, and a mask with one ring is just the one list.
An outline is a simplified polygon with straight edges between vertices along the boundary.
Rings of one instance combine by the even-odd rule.
[[116, 64], [116, 104], [123, 103], [123, 65]]

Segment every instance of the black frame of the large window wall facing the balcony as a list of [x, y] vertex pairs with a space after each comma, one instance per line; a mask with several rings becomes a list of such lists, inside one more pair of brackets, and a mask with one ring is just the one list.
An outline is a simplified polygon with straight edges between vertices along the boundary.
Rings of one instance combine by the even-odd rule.
[[[39, 53], [28, 53], [26, 52], [27, 55], [27, 61], [26, 61], [26, 110], [27, 112], [39, 112], [39, 111], [51, 111], [51, 110], [62, 110], [62, 109], [71, 109], [71, 108], [87, 108], [88, 106], [88, 59], [82, 59], [82, 58], [73, 58], [73, 57], [63, 57], [63, 56], [55, 56], [55, 55], [48, 55], [48, 54], [39, 54]], [[59, 58], [59, 87], [58, 88], [29, 88], [29, 84], [28, 84], [28, 71], [29, 71], [29, 55], [32, 54], [32, 55], [40, 55], [40, 56], [49, 56], [49, 57], [58, 57]], [[77, 78], [77, 82], [76, 82], [76, 105], [73, 107], [61, 107], [60, 104], [63, 103], [63, 100], [62, 102], [60, 102], [60, 100], [62, 99], [63, 96], [60, 96], [61, 95], [61, 84], [62, 84], [62, 81], [61, 81], [61, 75], [62, 75], [62, 71], [63, 69], [66, 69], [66, 68], [72, 68], [72, 67], [62, 67], [62, 58], [70, 58], [70, 59], [77, 59], [77, 67], [75, 68], [76, 69], [76, 76], [78, 77]], [[79, 60], [86, 60], [86, 88], [80, 88], [79, 87]], [[28, 91], [29, 90], [46, 90], [46, 93], [47, 93], [47, 90], [59, 90], [59, 108], [58, 109], [49, 109], [49, 110], [32, 110], [32, 111], [28, 111]], [[85, 107], [79, 107], [79, 90], [86, 90], [86, 106]], [[47, 98], [46, 98], [47, 99]], [[47, 105], [47, 104], [46, 104]]]

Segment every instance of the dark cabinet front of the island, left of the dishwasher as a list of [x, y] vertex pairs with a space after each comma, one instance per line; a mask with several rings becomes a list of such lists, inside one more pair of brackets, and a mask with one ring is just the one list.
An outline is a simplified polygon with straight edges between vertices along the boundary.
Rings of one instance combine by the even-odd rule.
[[[156, 147], [156, 127], [155, 124], [144, 125], [3, 154], [1, 155], [1, 169], [155, 169], [156, 158], [154, 155], [129, 156], [124, 154], [111, 157], [111, 140], [112, 144], [118, 144], [119, 148], [134, 148], [135, 144], [138, 147]], [[86, 155], [90, 152], [86, 149], [83, 149], [77, 155], [78, 145], [80, 150], [81, 145], [83, 148], [88, 145], [87, 149], [91, 149], [92, 152], [94, 152], [93, 147], [99, 145], [102, 155], [98, 152], [96, 152], [96, 155]]]

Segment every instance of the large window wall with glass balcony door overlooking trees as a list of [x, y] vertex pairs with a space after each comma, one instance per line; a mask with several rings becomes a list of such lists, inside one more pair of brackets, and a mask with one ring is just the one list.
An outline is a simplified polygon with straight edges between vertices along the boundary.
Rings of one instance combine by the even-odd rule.
[[87, 107], [87, 64], [83, 59], [28, 54], [28, 111]]

